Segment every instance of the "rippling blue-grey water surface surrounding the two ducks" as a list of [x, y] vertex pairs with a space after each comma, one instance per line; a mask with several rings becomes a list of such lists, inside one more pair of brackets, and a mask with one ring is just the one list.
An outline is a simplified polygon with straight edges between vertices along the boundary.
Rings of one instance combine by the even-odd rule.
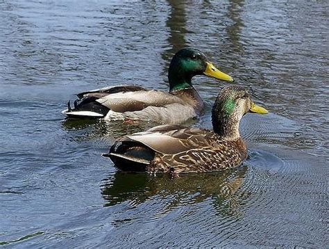
[[[328, 246], [327, 1], [0, 1], [0, 245]], [[181, 47], [204, 51], [269, 115], [241, 124], [227, 172], [125, 174], [100, 156], [146, 129], [69, 121], [83, 90], [167, 90]], [[194, 79], [211, 127], [224, 83]]]

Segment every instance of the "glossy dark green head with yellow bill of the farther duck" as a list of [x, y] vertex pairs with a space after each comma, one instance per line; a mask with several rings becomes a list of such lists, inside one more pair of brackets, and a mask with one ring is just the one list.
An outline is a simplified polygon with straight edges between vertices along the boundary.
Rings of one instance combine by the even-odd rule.
[[223, 81], [233, 81], [228, 74], [219, 71], [198, 49], [180, 49], [169, 66], [170, 91], [192, 87], [192, 77], [206, 75]]

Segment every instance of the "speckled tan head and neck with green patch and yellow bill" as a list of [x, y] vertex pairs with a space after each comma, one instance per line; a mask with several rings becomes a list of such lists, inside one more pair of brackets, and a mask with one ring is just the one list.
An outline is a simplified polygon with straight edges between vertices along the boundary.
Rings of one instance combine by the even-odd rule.
[[239, 138], [239, 122], [246, 113], [267, 114], [256, 105], [247, 90], [239, 86], [223, 88], [212, 107], [212, 127], [228, 140]]

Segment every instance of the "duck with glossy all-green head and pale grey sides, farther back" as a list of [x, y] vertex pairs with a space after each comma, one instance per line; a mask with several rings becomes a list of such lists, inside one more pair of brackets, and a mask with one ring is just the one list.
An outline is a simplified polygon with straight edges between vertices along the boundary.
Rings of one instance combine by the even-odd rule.
[[182, 124], [203, 112], [204, 104], [192, 85], [192, 78], [205, 75], [222, 81], [234, 81], [217, 69], [198, 49], [180, 49], [171, 59], [168, 71], [169, 92], [136, 85], [110, 86], [78, 93], [72, 107], [62, 111], [68, 118], [153, 121], [158, 124]]

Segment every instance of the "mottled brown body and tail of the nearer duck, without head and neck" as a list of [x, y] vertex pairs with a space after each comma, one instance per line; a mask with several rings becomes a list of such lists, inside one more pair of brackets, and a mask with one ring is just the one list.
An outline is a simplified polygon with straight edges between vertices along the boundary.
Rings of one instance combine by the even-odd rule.
[[207, 129], [170, 124], [124, 136], [105, 156], [121, 170], [127, 163], [132, 170], [140, 161], [140, 169], [151, 172], [206, 172], [238, 166], [246, 147], [241, 139], [223, 140]]

